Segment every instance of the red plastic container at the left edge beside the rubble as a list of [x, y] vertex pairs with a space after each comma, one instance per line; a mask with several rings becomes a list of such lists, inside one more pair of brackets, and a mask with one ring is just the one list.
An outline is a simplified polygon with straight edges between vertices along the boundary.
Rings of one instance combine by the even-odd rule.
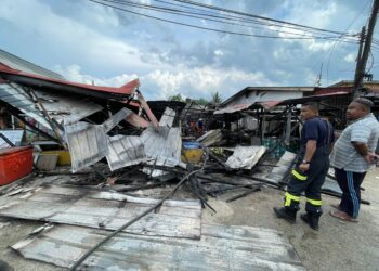
[[32, 170], [32, 147], [18, 146], [0, 150], [0, 185], [11, 183]]

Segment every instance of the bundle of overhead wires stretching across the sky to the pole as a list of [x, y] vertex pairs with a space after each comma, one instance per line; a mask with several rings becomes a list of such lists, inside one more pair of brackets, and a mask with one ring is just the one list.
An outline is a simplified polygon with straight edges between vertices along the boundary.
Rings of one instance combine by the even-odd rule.
[[322, 29], [191, 0], [89, 0], [120, 12], [221, 34], [266, 39], [323, 39], [358, 42], [360, 34]]

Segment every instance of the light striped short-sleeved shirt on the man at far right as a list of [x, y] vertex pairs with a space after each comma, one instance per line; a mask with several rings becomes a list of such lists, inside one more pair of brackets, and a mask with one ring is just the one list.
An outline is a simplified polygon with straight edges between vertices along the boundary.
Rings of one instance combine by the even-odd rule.
[[366, 143], [369, 152], [375, 152], [379, 139], [379, 122], [373, 115], [360, 118], [349, 125], [337, 140], [330, 154], [330, 165], [353, 172], [366, 172], [368, 164], [351, 142]]

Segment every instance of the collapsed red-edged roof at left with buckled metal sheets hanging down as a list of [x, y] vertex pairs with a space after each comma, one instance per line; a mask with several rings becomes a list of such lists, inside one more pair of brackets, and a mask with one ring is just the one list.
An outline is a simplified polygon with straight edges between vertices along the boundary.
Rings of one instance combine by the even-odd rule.
[[[181, 144], [179, 130], [169, 131], [175, 112], [167, 108], [168, 115], [161, 114], [165, 127], [159, 128], [139, 90], [139, 79], [119, 88], [71, 82], [4, 51], [0, 55], [0, 106], [44, 138], [68, 149], [74, 172], [104, 157], [112, 170], [146, 160], [146, 140], [161, 140], [160, 147], [151, 152], [156, 159], [166, 157], [161, 154], [166, 142]], [[130, 136], [128, 126], [140, 129], [139, 133], [141, 128], [154, 128], [140, 138]], [[175, 134], [174, 139], [169, 134]], [[172, 140], [177, 143], [172, 144]], [[171, 164], [177, 165], [178, 151], [167, 152], [169, 157], [161, 163], [172, 160], [172, 153], [175, 162]]]

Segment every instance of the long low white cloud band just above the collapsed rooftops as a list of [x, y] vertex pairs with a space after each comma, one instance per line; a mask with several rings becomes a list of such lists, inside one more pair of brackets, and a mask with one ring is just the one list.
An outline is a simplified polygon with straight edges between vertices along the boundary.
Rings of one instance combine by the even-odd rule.
[[78, 65], [58, 68], [68, 80], [97, 86], [120, 87], [139, 77], [141, 91], [148, 100], [162, 100], [181, 93], [184, 96], [210, 99], [211, 93], [218, 91], [223, 98], [228, 98], [246, 86], [272, 86], [263, 73], [244, 73], [236, 69], [214, 69], [201, 67], [178, 72], [160, 70], [144, 75], [122, 74], [112, 78], [96, 78], [81, 73]]

